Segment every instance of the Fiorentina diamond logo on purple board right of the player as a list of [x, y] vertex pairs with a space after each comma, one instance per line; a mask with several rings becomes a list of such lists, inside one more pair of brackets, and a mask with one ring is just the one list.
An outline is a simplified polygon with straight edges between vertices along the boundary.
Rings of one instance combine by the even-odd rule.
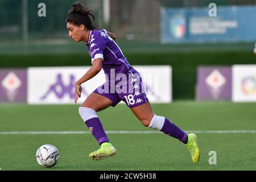
[[210, 75], [205, 79], [205, 82], [210, 94], [216, 100], [220, 96], [222, 89], [226, 84], [226, 79], [221, 75], [218, 69], [214, 69], [212, 73], [210, 73]]

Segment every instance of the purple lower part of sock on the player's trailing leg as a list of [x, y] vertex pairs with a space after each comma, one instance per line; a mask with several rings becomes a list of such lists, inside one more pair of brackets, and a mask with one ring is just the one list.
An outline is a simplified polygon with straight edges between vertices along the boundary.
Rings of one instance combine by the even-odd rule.
[[185, 133], [184, 131], [179, 129], [179, 127], [174, 125], [174, 123], [172, 123], [167, 118], [164, 120], [164, 125], [160, 131], [162, 131], [163, 133], [165, 133], [171, 137], [179, 139], [183, 143], [188, 143], [187, 133]]

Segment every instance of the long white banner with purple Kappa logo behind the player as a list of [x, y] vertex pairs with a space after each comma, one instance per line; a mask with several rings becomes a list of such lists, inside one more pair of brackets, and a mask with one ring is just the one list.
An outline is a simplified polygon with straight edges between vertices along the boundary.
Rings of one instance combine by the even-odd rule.
[[[74, 85], [90, 67], [31, 67], [28, 68], [28, 104], [74, 104]], [[172, 101], [170, 66], [135, 66], [141, 74], [148, 100], [151, 103]], [[102, 70], [91, 80], [82, 84], [79, 104], [84, 102], [98, 86], [104, 84]], [[122, 102], [121, 102], [122, 103]], [[123, 102], [124, 103], [124, 102]]]

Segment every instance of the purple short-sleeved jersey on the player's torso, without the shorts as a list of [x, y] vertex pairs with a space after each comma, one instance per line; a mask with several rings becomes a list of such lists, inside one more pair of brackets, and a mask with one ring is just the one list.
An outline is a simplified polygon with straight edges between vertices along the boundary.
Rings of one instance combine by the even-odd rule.
[[87, 46], [92, 62], [98, 58], [103, 59], [102, 68], [106, 75], [110, 76], [110, 69], [115, 69], [115, 75], [133, 71], [133, 67], [130, 66], [117, 43], [108, 36], [106, 30], [90, 31]]

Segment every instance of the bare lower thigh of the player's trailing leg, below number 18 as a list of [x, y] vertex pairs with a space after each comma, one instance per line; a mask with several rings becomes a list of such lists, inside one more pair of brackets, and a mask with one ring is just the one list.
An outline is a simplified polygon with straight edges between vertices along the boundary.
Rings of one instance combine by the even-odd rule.
[[154, 117], [150, 102], [146, 102], [139, 106], [131, 107], [130, 109], [144, 126], [150, 125], [151, 119]]

